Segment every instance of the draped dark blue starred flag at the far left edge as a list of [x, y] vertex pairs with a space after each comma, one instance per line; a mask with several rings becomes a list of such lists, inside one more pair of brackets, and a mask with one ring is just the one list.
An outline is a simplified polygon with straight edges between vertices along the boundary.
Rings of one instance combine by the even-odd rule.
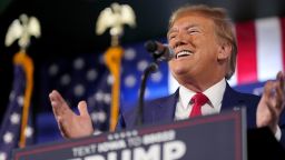
[[[22, 64], [14, 63], [12, 91], [10, 92], [9, 104], [0, 128], [0, 160], [10, 160], [12, 150], [19, 148], [26, 89], [26, 70]], [[24, 130], [26, 144], [33, 143], [31, 118], [29, 113], [28, 126]]]

